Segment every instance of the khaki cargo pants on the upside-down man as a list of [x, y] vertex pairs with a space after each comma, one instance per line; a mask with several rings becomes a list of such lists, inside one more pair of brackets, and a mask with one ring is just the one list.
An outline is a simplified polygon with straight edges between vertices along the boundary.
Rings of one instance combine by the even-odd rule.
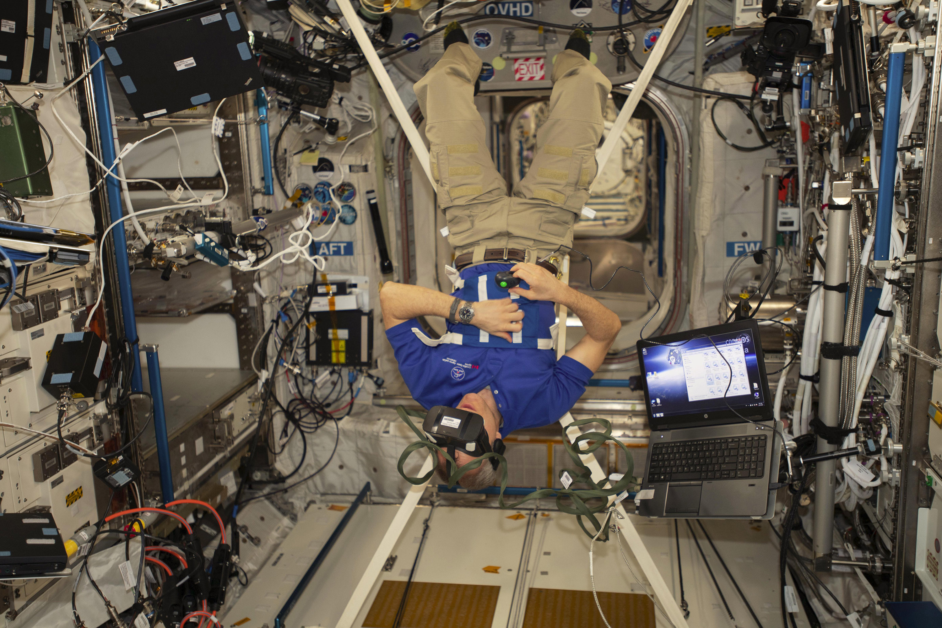
[[468, 44], [454, 43], [414, 86], [448, 243], [458, 255], [474, 253], [473, 263], [482, 261], [486, 249], [504, 248], [527, 250], [527, 261], [536, 262], [573, 243], [595, 177], [611, 83], [575, 51], [556, 57], [550, 112], [537, 133], [537, 152], [527, 176], [508, 196], [474, 105], [480, 67]]

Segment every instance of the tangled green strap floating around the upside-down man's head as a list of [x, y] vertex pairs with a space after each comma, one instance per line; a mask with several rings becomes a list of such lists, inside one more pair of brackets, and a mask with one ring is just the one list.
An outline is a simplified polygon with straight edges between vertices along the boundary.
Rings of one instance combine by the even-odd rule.
[[[425, 435], [425, 433], [418, 427], [415, 427], [414, 423], [409, 418], [410, 416], [413, 416], [414, 418], [417, 418], [417, 419], [424, 419], [425, 418], [424, 414], [419, 414], [418, 412], [414, 412], [414, 411], [408, 411], [403, 406], [398, 406], [396, 408], [396, 411], [398, 412], [399, 418], [402, 419], [407, 426], [412, 428], [412, 430], [415, 432], [415, 435], [419, 439], [415, 443], [412, 443], [408, 447], [405, 448], [405, 450], [402, 452], [402, 455], [399, 456], [399, 461], [397, 465], [399, 475], [405, 478], [405, 480], [409, 482], [410, 484], [414, 484], [416, 486], [422, 485], [428, 482], [431, 479], [431, 476], [434, 475], [435, 473], [435, 469], [432, 468], [432, 470], [426, 475], [422, 475], [421, 477], [413, 477], [411, 475], [406, 475], [406, 473], [402, 470], [402, 467], [405, 464], [406, 459], [408, 459], [409, 456], [411, 456], [414, 451], [418, 451], [419, 449], [428, 449], [429, 452], [433, 456], [435, 454], [441, 454], [446, 459], [448, 469], [450, 470], [450, 475], [448, 475], [448, 479], [447, 479], [448, 488], [451, 488], [455, 486], [456, 484], [458, 484], [458, 480], [461, 479], [462, 475], [466, 474], [469, 471], [477, 469], [484, 462], [484, 460], [489, 459], [489, 458], [496, 458], [500, 462], [500, 469], [501, 469], [500, 493], [497, 495], [497, 505], [499, 507], [505, 508], [505, 509], [517, 508], [517, 507], [520, 507], [521, 504], [526, 504], [527, 502], [534, 499], [546, 499], [549, 497], [555, 497], [556, 507], [559, 508], [560, 512], [565, 512], [566, 514], [570, 514], [570, 515], [576, 515], [577, 523], [579, 524], [579, 527], [582, 528], [582, 531], [585, 532], [588, 537], [593, 538], [595, 535], [598, 534], [599, 530], [602, 529], [602, 524], [598, 523], [598, 520], [594, 517], [594, 514], [596, 512], [602, 512], [603, 510], [608, 508], [609, 501], [610, 501], [608, 498], [611, 497], [612, 495], [617, 495], [623, 491], [626, 491], [628, 488], [628, 485], [632, 483], [632, 479], [633, 479], [632, 475], [634, 473], [634, 459], [631, 457], [631, 454], [628, 452], [628, 448], [625, 447], [625, 443], [622, 443], [621, 441], [619, 441], [618, 439], [616, 439], [615, 437], [611, 435], [611, 422], [607, 421], [606, 419], [600, 419], [600, 418], [595, 418], [595, 417], [591, 419], [579, 419], [578, 421], [573, 421], [571, 424], [569, 424], [569, 426], [563, 427], [562, 429], [562, 444], [566, 448], [566, 453], [569, 454], [569, 458], [573, 460], [573, 464], [576, 465], [577, 469], [576, 470], [562, 469], [560, 470], [560, 476], [562, 475], [563, 472], [568, 473], [573, 478], [574, 484], [576, 482], [582, 482], [584, 484], [588, 484], [592, 488], [591, 489], [540, 489], [538, 491], [531, 492], [530, 494], [528, 494], [526, 497], [524, 497], [518, 502], [514, 502], [512, 504], [506, 504], [504, 502], [504, 491], [507, 489], [507, 460], [504, 459], [503, 456], [501, 456], [500, 454], [496, 454], [495, 452], [488, 452], [484, 454], [483, 456], [480, 456], [479, 458], [476, 458], [468, 462], [463, 467], [459, 467], [458, 464], [455, 462], [455, 459], [451, 458], [451, 456], [448, 455], [447, 451], [439, 447], [437, 444], [430, 442], [429, 438]], [[579, 436], [577, 436], [576, 441], [574, 443], [569, 442], [569, 439], [566, 437], [566, 429], [568, 429], [569, 427], [581, 427], [581, 426], [589, 425], [592, 423], [597, 423], [598, 425], [604, 427], [605, 431], [585, 432], [584, 434], [580, 434]], [[619, 447], [622, 448], [622, 451], [625, 453], [625, 464], [627, 465], [627, 469], [625, 470], [625, 475], [622, 477], [622, 479], [615, 482], [614, 485], [610, 486], [608, 489], [603, 486], [604, 484], [609, 483], [608, 478], [603, 479], [601, 484], [596, 483], [592, 478], [592, 472], [589, 470], [589, 467], [587, 467], [582, 462], [582, 459], [579, 458], [580, 453], [592, 454], [596, 449], [601, 447], [602, 444], [606, 443], [607, 441], [616, 443], [618, 444]], [[582, 443], [588, 443], [585, 449], [580, 448], [580, 445]], [[435, 465], [433, 465], [433, 467], [434, 466]], [[588, 500], [601, 499], [601, 498], [606, 498], [606, 499], [602, 503], [596, 506], [590, 506], [589, 504], [586, 504]], [[590, 532], [586, 528], [585, 524], [582, 523], [583, 517], [587, 517], [590, 523], [593, 524], [593, 528], [595, 530], [594, 533]], [[605, 531], [605, 534], [602, 535], [599, 538], [599, 540], [608, 540], [608, 539], [609, 539], [609, 531], [607, 529]]]

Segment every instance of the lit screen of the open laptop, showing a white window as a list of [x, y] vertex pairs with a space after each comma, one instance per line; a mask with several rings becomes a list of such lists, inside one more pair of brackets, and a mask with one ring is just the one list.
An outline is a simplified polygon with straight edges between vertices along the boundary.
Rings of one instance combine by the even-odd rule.
[[746, 320], [638, 343], [652, 429], [767, 414], [758, 325]]

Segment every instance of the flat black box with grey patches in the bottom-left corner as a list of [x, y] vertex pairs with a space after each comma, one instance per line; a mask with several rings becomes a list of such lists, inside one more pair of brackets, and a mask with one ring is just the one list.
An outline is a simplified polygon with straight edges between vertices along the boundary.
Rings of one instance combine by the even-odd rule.
[[69, 557], [51, 514], [5, 512], [0, 520], [0, 576], [29, 577], [65, 569]]

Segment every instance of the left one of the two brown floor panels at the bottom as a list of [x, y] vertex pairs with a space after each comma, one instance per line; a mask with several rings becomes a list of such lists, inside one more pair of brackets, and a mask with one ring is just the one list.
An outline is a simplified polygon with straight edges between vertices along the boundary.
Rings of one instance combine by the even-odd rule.
[[[392, 628], [405, 588], [406, 583], [401, 580], [383, 582], [369, 607], [364, 628]], [[491, 628], [499, 594], [500, 587], [414, 582], [399, 625], [402, 628]]]

